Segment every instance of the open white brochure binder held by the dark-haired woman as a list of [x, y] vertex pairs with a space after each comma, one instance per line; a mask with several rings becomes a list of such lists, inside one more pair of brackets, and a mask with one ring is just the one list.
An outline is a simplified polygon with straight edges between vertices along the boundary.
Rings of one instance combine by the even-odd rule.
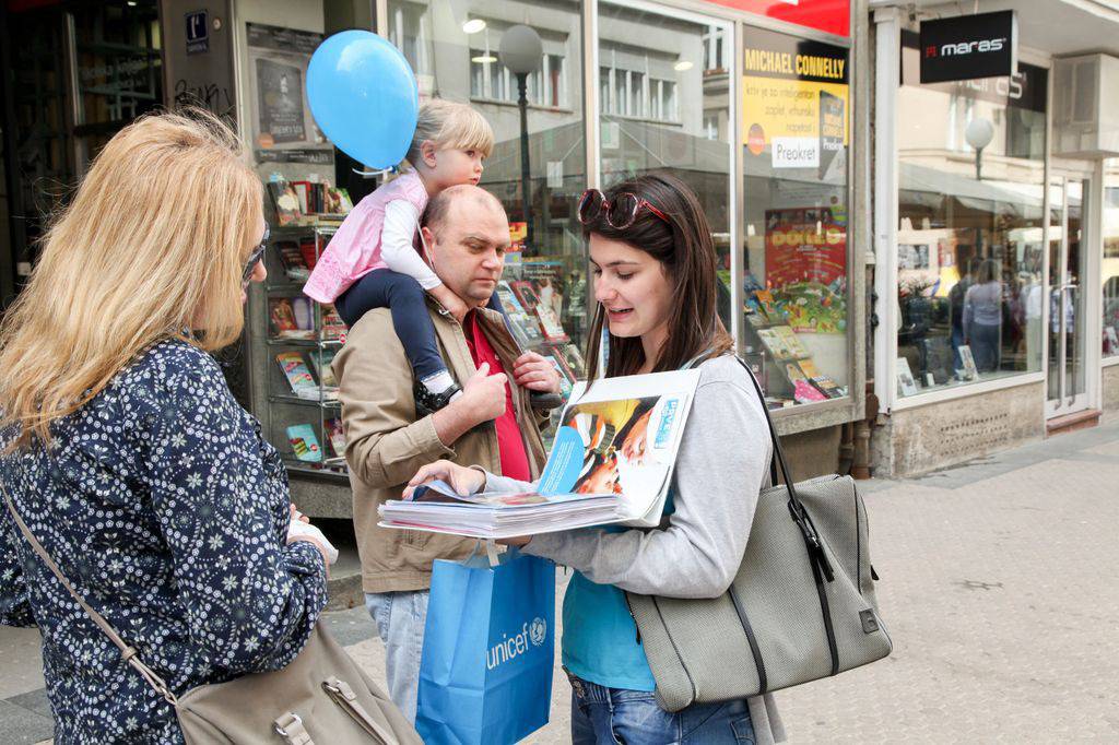
[[434, 481], [383, 504], [380, 525], [472, 538], [653, 527], [698, 383], [698, 370], [577, 383], [535, 491], [457, 494]]

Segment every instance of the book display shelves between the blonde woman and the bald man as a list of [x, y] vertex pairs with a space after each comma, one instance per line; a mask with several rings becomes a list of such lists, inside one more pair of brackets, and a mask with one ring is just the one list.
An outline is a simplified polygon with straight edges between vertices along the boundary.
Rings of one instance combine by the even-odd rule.
[[346, 327], [331, 305], [303, 294], [332, 226], [273, 227], [265, 254], [262, 357], [269, 408], [265, 436], [289, 471], [345, 477], [345, 438], [338, 386], [330, 361]]

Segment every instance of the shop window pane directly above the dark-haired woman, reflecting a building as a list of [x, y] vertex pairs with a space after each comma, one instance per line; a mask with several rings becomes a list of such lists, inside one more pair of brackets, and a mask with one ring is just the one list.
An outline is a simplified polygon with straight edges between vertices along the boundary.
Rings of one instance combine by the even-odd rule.
[[697, 18], [599, 3], [600, 164], [608, 187], [667, 171], [695, 190], [720, 255], [720, 312], [730, 328], [733, 152], [727, 128], [720, 133], [707, 122], [727, 120], [730, 100], [704, 67], [705, 45], [731, 38], [732, 26]]

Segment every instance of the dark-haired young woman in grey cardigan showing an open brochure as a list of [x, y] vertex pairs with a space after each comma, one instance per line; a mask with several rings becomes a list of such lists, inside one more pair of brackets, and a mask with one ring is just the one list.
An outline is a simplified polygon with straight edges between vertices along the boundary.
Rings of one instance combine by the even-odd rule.
[[[652, 672], [626, 592], [717, 597], [750, 537], [771, 458], [762, 402], [735, 361], [716, 313], [716, 257], [695, 195], [667, 175], [587, 190], [580, 219], [599, 302], [590, 339], [609, 345], [605, 376], [698, 367], [665, 518], [655, 530], [617, 526], [513, 539], [575, 574], [563, 607], [572, 739], [583, 743], [773, 743], [784, 733], [770, 696], [695, 705], [675, 714], [655, 699]], [[589, 345], [587, 369], [599, 369]], [[463, 493], [532, 489], [440, 461], [412, 485], [442, 479]], [[411, 487], [410, 487], [411, 488]]]

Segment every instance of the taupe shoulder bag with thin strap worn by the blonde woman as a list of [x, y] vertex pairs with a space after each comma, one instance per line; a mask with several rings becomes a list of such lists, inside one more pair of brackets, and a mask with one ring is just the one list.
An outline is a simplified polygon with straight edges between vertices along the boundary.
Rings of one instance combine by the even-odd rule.
[[105, 619], [77, 594], [16, 511], [4, 502], [20, 532], [58, 582], [77, 601], [128, 662], [175, 707], [188, 745], [368, 745], [421, 743], [392, 700], [365, 675], [319, 623], [307, 645], [282, 670], [254, 672], [224, 683], [198, 686], [176, 696]]

